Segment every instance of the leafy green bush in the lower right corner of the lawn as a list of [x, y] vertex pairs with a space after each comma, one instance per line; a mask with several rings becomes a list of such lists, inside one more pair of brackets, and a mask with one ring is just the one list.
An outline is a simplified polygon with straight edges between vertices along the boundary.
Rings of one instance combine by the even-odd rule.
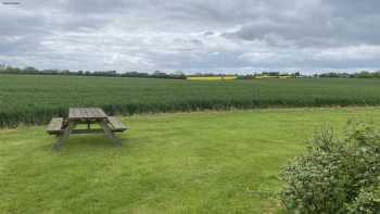
[[380, 131], [351, 122], [343, 138], [325, 128], [281, 175], [283, 207], [294, 213], [379, 213]]

